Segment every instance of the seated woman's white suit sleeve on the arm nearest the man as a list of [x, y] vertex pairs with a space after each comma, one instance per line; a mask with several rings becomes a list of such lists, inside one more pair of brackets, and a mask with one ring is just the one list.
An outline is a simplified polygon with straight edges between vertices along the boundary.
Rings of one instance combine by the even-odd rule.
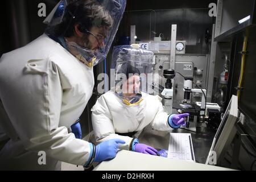
[[98, 98], [96, 104], [92, 107], [92, 125], [96, 143], [98, 144], [109, 139], [119, 138], [125, 141], [125, 144], [118, 145], [119, 148], [130, 150], [133, 138], [115, 134], [112, 114], [110, 113], [105, 97], [107, 96], [104, 94]]

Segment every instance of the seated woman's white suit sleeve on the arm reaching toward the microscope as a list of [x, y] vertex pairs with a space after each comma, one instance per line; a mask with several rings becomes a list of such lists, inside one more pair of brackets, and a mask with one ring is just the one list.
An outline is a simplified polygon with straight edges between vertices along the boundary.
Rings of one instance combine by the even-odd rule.
[[155, 96], [155, 104], [158, 106], [158, 111], [155, 115], [154, 120], [151, 122], [152, 129], [159, 131], [172, 130], [172, 127], [168, 123], [169, 114], [164, 111], [162, 98]]

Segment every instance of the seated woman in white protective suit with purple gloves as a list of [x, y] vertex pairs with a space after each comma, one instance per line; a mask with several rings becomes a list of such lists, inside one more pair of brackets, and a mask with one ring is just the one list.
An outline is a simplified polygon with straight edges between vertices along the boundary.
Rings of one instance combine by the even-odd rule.
[[[112, 67], [115, 88], [98, 98], [92, 108], [93, 131], [97, 143], [119, 138], [123, 150], [156, 155], [155, 148], [139, 143], [144, 127], [167, 131], [185, 124], [188, 113], [168, 115], [162, 98], [147, 93], [154, 53], [136, 46], [114, 47]], [[122, 81], [119, 81], [122, 80]], [[119, 82], [118, 82], [119, 81]]]

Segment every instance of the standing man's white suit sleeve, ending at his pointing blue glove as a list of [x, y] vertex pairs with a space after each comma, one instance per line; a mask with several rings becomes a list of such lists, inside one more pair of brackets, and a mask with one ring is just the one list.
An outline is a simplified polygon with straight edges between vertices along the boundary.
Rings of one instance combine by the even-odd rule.
[[63, 90], [56, 64], [29, 60], [19, 79], [14, 77], [7, 85], [3, 100], [9, 101], [3, 103], [26, 150], [45, 151], [53, 159], [76, 165], [88, 162], [89, 142], [59, 126]]

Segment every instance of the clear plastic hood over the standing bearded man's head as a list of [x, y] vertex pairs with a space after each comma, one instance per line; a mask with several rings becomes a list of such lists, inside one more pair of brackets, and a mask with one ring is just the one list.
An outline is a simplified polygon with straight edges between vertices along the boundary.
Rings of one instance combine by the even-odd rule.
[[[82, 63], [93, 67], [104, 60], [125, 11], [126, 0], [62, 0], [44, 20], [46, 34]], [[68, 40], [79, 32], [79, 40]]]

